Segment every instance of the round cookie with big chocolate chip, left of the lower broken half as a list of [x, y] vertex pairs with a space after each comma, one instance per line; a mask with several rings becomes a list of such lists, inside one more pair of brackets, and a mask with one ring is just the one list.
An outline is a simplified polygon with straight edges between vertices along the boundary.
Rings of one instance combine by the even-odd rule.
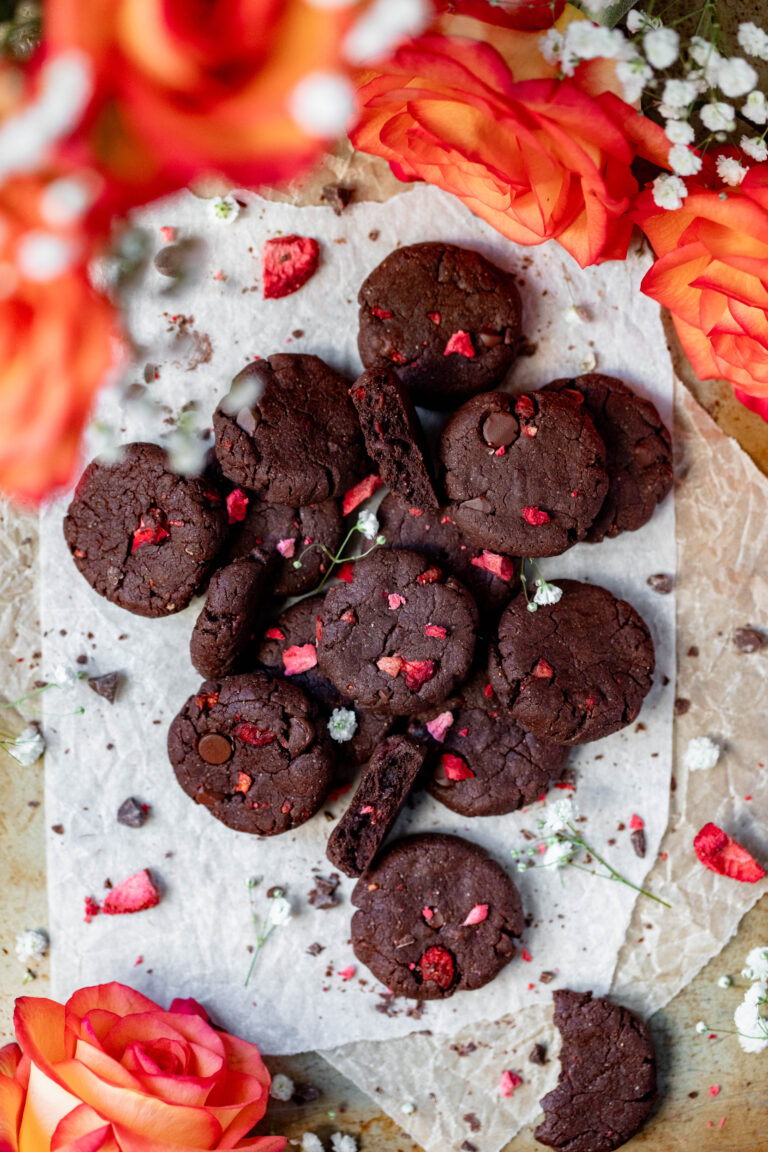
[[188, 796], [228, 827], [260, 836], [304, 824], [333, 783], [314, 704], [264, 672], [206, 680], [172, 722], [168, 756]]

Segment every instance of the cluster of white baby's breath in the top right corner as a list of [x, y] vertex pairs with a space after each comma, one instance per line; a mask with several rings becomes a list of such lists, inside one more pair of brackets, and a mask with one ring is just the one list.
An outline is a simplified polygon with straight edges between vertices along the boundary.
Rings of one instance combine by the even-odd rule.
[[[590, 15], [604, 7], [585, 2]], [[754, 23], [742, 23], [738, 43], [746, 55], [768, 61], [768, 33]], [[626, 16], [626, 30], [603, 28], [588, 20], [573, 21], [564, 32], [550, 29], [540, 39], [545, 59], [572, 76], [585, 60], [604, 58], [616, 62], [616, 75], [624, 99], [637, 104], [644, 92], [656, 97], [669, 138], [671, 173], [653, 182], [653, 198], [659, 207], [675, 211], [687, 196], [685, 177], [695, 176], [702, 166], [699, 149], [713, 141], [723, 144], [736, 129], [737, 109], [731, 100], [745, 98], [740, 114], [754, 124], [768, 123], [768, 100], [758, 85], [758, 73], [740, 56], [723, 56], [716, 39], [692, 36], [687, 41], [674, 28], [666, 28], [659, 16], [633, 8]], [[682, 69], [680, 69], [682, 66]], [[675, 67], [683, 77], [667, 78]], [[723, 99], [721, 99], [723, 97]], [[768, 159], [766, 132], [742, 136], [738, 146], [758, 164]], [[718, 156], [715, 168], [722, 183], [738, 187], [750, 166], [733, 156]], [[725, 194], [723, 194], [725, 195]]]

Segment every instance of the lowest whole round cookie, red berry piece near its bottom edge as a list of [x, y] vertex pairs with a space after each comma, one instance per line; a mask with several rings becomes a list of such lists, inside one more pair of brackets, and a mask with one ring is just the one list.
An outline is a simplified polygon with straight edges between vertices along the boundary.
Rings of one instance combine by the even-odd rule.
[[481, 988], [523, 934], [512, 880], [485, 849], [439, 833], [396, 841], [352, 892], [355, 955], [396, 995]]

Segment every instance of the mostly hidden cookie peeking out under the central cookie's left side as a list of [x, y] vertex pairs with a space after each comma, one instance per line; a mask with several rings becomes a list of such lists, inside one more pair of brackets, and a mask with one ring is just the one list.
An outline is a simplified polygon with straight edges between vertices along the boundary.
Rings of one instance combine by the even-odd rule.
[[[271, 628], [267, 628], [258, 646], [257, 659], [271, 675], [287, 676], [288, 668], [296, 667], [297, 660], [299, 665], [304, 666], [313, 659], [317, 660], [322, 601], [324, 597], [321, 596], [299, 600], [298, 604], [287, 608]], [[286, 658], [286, 653], [289, 653], [288, 658]], [[294, 661], [291, 661], [291, 655], [295, 657]], [[351, 776], [352, 773], [345, 772], [345, 767], [349, 765], [355, 768], [371, 758], [375, 745], [391, 728], [391, 719], [356, 708], [353, 702], [336, 690], [328, 677], [320, 672], [317, 664], [305, 667], [303, 672], [290, 674], [290, 681], [309, 692], [326, 718], [334, 708], [355, 712], [355, 732], [351, 737], [340, 741], [339, 736], [345, 733], [339, 730], [339, 726], [332, 726], [329, 729], [336, 748], [336, 763], [340, 770], [337, 776], [342, 779]]]

